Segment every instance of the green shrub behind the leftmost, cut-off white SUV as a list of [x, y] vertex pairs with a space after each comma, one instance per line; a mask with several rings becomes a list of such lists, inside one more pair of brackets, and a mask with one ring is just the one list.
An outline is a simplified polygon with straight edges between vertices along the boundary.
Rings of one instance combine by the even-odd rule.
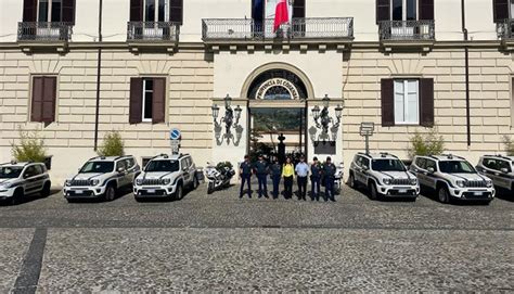
[[44, 139], [37, 130], [20, 131], [20, 144], [11, 143], [11, 153], [17, 162], [44, 163], [47, 151], [44, 148]]

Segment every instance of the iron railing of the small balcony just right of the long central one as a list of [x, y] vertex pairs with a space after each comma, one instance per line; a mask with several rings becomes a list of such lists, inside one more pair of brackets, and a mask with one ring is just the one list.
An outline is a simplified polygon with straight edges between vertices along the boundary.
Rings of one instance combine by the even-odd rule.
[[433, 41], [434, 21], [386, 21], [380, 22], [378, 34], [382, 41]]

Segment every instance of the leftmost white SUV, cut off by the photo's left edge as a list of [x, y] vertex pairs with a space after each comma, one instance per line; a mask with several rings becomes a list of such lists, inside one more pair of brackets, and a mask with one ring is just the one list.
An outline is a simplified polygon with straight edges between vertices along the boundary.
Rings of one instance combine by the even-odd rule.
[[22, 197], [40, 193], [50, 195], [50, 177], [41, 163], [9, 163], [0, 165], [0, 200], [17, 204]]

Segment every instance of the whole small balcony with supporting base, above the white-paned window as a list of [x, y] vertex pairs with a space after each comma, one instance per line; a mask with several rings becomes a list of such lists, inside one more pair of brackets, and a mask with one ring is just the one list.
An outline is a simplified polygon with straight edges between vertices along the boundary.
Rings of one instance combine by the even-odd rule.
[[420, 47], [424, 51], [434, 44], [434, 21], [385, 21], [378, 23], [381, 43], [386, 50], [394, 47]]

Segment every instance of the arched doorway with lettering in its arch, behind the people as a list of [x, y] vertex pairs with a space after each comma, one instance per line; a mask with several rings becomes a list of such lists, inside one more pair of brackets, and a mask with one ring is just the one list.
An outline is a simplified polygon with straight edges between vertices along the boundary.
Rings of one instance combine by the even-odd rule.
[[248, 154], [297, 159], [307, 155], [307, 104], [312, 88], [288, 66], [266, 65], [245, 84], [248, 101]]

